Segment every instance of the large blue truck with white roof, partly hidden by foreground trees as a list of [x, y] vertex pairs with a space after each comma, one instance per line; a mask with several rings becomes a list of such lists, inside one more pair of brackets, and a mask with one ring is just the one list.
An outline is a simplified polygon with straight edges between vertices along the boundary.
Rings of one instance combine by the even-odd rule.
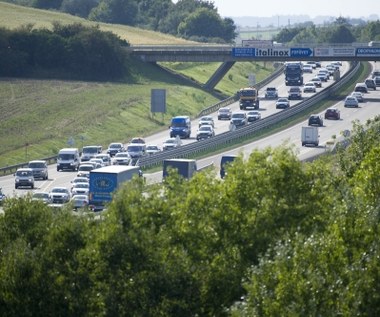
[[90, 171], [89, 206], [93, 211], [103, 210], [111, 202], [113, 193], [120, 186], [140, 176], [139, 166], [110, 165]]

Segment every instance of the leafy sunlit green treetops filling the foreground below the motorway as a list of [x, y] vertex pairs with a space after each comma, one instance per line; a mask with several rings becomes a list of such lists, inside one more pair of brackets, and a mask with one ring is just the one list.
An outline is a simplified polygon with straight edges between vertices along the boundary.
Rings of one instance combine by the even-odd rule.
[[30, 198], [0, 217], [1, 316], [379, 316], [380, 119], [302, 163], [287, 147], [127, 184], [100, 218]]

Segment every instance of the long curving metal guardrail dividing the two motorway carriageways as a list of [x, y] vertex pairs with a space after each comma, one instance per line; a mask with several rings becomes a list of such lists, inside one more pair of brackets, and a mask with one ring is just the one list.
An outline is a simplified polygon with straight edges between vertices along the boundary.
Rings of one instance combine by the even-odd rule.
[[223, 145], [237, 143], [240, 139], [247, 139], [249, 137], [253, 137], [255, 134], [257, 134], [257, 132], [267, 129], [270, 126], [279, 123], [280, 121], [289, 119], [299, 113], [302, 113], [303, 111], [312, 107], [317, 102], [338, 91], [357, 73], [357, 71], [359, 70], [359, 66], [360, 63], [358, 62], [352, 63], [349, 71], [344, 76], [342, 76], [342, 78], [339, 81], [335, 82], [330, 87], [324, 89], [320, 93], [315, 94], [314, 96], [299, 103], [294, 107], [272, 114], [266, 118], [263, 118], [257, 122], [253, 122], [248, 126], [239, 128], [235, 131], [224, 132], [210, 139], [183, 145], [177, 149], [157, 153], [150, 157], [143, 157], [140, 159], [140, 166], [142, 168], [154, 167], [157, 165], [161, 165], [162, 161], [165, 159], [186, 158], [191, 156], [193, 157], [199, 153], [204, 153], [206, 151], [218, 149]]

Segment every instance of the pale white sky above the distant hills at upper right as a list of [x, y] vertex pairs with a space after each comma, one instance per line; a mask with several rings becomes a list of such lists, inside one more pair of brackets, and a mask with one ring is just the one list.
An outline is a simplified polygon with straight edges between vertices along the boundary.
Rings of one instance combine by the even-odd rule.
[[360, 18], [380, 16], [380, 0], [211, 0], [222, 17], [272, 17], [281, 15], [320, 15]]

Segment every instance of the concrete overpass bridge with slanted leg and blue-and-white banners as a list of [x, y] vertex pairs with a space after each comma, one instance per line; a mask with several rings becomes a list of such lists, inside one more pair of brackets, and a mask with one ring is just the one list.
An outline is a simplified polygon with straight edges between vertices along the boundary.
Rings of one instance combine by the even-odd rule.
[[126, 50], [144, 62], [221, 62], [204, 85], [213, 89], [236, 62], [379, 61], [380, 47], [368, 43], [286, 45], [140, 45]]

